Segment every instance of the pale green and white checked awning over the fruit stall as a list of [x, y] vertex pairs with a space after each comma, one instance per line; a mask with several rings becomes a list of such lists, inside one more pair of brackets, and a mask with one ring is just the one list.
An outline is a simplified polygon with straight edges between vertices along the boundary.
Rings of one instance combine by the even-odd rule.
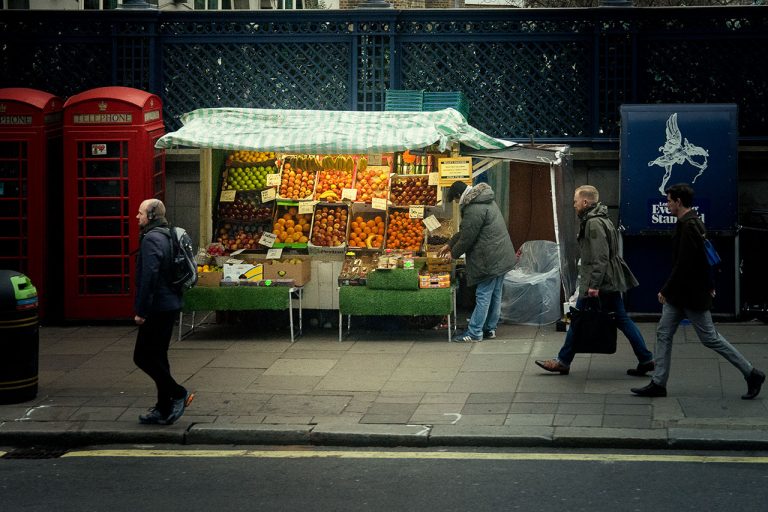
[[471, 127], [452, 108], [436, 112], [358, 112], [203, 108], [155, 147], [195, 147], [281, 153], [389, 153], [454, 141], [475, 149], [513, 145]]

